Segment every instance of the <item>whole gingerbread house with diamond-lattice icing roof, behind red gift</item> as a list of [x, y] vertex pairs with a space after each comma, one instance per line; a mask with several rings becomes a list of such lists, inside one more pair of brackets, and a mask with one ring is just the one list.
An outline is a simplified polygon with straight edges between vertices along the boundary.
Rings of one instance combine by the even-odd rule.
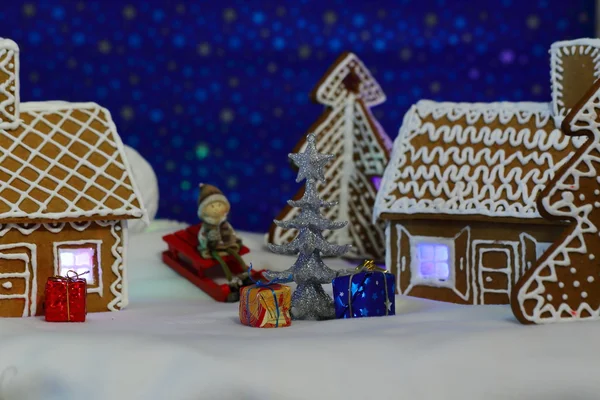
[[0, 316], [43, 314], [54, 275], [87, 272], [88, 311], [127, 304], [127, 220], [141, 197], [109, 112], [19, 101], [19, 48], [0, 39]]

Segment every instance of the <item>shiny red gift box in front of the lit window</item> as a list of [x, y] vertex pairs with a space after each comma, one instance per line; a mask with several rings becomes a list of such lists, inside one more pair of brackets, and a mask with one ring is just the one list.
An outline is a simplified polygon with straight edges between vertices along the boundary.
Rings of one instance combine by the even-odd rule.
[[48, 322], [85, 322], [87, 282], [75, 274], [53, 276], [46, 282], [45, 315]]

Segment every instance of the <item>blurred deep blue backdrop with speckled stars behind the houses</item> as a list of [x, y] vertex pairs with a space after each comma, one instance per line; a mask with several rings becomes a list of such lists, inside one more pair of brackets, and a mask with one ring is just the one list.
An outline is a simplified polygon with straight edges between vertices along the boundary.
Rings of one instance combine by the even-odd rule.
[[298, 184], [287, 153], [318, 118], [308, 94], [357, 53], [394, 138], [421, 98], [549, 101], [548, 49], [594, 35], [591, 0], [11, 1], [21, 98], [95, 101], [154, 167], [159, 217], [194, 222], [219, 186], [237, 229], [266, 231]]

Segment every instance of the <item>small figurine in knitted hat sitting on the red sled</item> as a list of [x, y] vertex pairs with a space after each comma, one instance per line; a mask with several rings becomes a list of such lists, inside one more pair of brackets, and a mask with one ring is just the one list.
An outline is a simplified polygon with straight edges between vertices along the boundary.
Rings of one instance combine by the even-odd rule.
[[204, 258], [215, 259], [223, 268], [225, 277], [232, 287], [232, 293], [246, 284], [251, 284], [248, 273], [233, 276], [222, 256], [230, 255], [237, 260], [242, 270], [247, 271], [246, 263], [239, 255], [242, 241], [238, 238], [233, 227], [227, 222], [227, 214], [231, 206], [227, 197], [215, 186], [200, 184], [198, 197], [198, 217], [202, 228], [198, 232], [198, 250]]

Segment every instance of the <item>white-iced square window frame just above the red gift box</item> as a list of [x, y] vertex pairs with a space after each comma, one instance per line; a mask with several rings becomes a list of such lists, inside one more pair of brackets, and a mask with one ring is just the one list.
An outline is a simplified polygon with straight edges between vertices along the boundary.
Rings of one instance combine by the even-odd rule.
[[[54, 242], [54, 275], [66, 276], [66, 273], [62, 272], [61, 265], [61, 251], [68, 250], [91, 250], [92, 255], [92, 268], [89, 274], [83, 275], [82, 278], [87, 282], [87, 293], [98, 293], [102, 296], [103, 284], [102, 284], [102, 241], [101, 240], [77, 240], [77, 241], [66, 241], [66, 242]], [[69, 268], [72, 269], [72, 268]], [[90, 282], [90, 278], [92, 281]]]

